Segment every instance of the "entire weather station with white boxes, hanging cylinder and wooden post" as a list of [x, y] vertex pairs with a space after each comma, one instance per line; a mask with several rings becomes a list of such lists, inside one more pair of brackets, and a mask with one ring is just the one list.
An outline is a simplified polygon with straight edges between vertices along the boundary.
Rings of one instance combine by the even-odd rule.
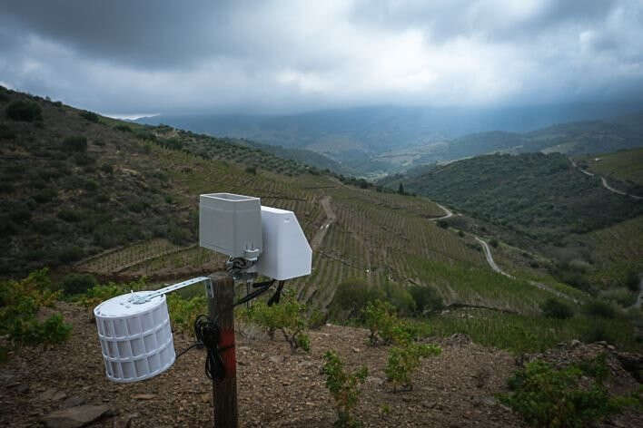
[[[232, 193], [200, 196], [199, 244], [228, 256], [224, 272], [133, 291], [94, 308], [105, 375], [119, 383], [143, 381], [168, 370], [177, 356], [203, 346], [205, 372], [213, 380], [214, 426], [235, 427], [233, 308], [271, 289], [268, 305], [278, 304], [285, 280], [310, 275], [312, 249], [292, 211], [263, 207], [259, 198]], [[269, 279], [256, 282], [258, 277]], [[195, 344], [177, 355], [165, 295], [201, 283], [209, 315], [197, 317]], [[247, 285], [246, 295], [236, 301], [235, 283]]]

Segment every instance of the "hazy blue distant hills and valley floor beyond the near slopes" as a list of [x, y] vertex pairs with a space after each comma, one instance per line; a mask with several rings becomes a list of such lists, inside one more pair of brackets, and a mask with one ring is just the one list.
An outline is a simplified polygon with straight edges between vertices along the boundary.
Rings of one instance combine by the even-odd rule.
[[[639, 107], [612, 107], [541, 106], [498, 111], [371, 107], [272, 116], [160, 115], [138, 122], [169, 123], [211, 135], [248, 138], [282, 146], [282, 154], [288, 149], [316, 151], [346, 171], [378, 178], [415, 165], [493, 151], [581, 154], [638, 147], [643, 136], [637, 124], [641, 113], [615, 115]], [[606, 117], [610, 119], [597, 120]], [[569, 122], [579, 120], [584, 122]], [[291, 152], [287, 157], [302, 154]], [[310, 155], [303, 159], [324, 168], [324, 162], [312, 163], [315, 160]]]

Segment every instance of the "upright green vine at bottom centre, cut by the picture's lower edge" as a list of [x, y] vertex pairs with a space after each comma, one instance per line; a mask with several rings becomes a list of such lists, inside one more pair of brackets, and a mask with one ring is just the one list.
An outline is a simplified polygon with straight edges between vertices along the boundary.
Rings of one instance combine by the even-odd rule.
[[322, 373], [326, 376], [326, 387], [331, 392], [337, 410], [337, 427], [357, 427], [361, 423], [353, 416], [353, 410], [360, 400], [359, 384], [363, 384], [369, 371], [362, 366], [353, 373], [344, 370], [344, 364], [334, 351], [323, 355]]

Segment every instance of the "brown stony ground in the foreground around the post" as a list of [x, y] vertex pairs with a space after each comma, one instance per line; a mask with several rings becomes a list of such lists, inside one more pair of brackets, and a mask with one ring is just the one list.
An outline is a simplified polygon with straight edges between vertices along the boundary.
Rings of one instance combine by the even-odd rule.
[[[212, 426], [212, 384], [203, 373], [203, 351], [190, 351], [153, 379], [114, 384], [104, 375], [95, 326], [86, 313], [64, 303], [59, 309], [74, 325], [67, 343], [51, 349], [25, 347], [0, 366], [0, 426]], [[312, 331], [310, 355], [291, 355], [285, 342], [272, 342], [252, 329], [242, 331], [245, 335], [237, 336], [241, 426], [331, 426], [335, 413], [320, 372], [328, 349], [351, 368], [369, 368], [357, 411], [365, 426], [523, 426], [519, 415], [494, 398], [506, 391], [519, 361], [472, 344], [466, 336], [440, 340], [442, 354], [423, 361], [414, 389], [392, 393], [384, 382], [387, 348], [367, 346], [366, 330], [324, 326]], [[178, 350], [192, 341], [182, 335], [174, 339]], [[561, 361], [569, 353], [582, 354], [584, 347], [562, 346], [542, 356]], [[609, 362], [618, 369], [618, 360], [610, 357]], [[628, 372], [618, 373], [624, 378], [619, 390], [638, 387]], [[642, 422], [640, 414], [628, 413], [606, 426]]]

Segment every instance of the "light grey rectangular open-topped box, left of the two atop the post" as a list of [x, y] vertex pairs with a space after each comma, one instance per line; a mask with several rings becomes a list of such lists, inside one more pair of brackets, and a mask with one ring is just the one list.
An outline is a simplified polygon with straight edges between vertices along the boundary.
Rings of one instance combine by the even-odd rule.
[[231, 258], [256, 260], [262, 254], [261, 199], [209, 193], [199, 199], [199, 245]]

